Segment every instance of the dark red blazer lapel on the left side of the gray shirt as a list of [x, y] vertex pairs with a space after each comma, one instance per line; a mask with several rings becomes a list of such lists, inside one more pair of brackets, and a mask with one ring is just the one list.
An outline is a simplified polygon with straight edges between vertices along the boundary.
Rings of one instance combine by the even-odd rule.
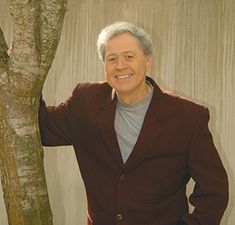
[[117, 99], [113, 90], [112, 96], [109, 96], [109, 98], [106, 99], [103, 105], [103, 111], [97, 117], [97, 126], [105, 144], [111, 151], [118, 166], [123, 167], [123, 160], [114, 129], [116, 104]]

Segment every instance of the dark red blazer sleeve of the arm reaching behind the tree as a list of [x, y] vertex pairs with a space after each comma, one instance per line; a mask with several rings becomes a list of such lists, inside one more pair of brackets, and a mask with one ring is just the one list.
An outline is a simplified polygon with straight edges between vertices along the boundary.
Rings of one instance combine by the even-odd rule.
[[39, 129], [44, 146], [61, 146], [72, 144], [71, 101], [69, 98], [59, 106], [46, 106], [41, 99], [39, 106]]

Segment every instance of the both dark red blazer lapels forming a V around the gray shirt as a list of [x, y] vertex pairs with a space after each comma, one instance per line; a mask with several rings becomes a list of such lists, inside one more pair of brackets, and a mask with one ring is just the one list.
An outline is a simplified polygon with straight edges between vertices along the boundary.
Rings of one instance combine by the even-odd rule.
[[[129, 167], [132, 164], [139, 162], [143, 158], [145, 152], [147, 152], [154, 142], [157, 141], [163, 131], [165, 118], [163, 93], [152, 79], [148, 78], [148, 80], [154, 87], [153, 97], [149, 109], [147, 110], [139, 137], [125, 167]], [[112, 95], [109, 95], [103, 105], [103, 111], [97, 117], [97, 126], [115, 161], [118, 166], [122, 168], [124, 164], [114, 129], [116, 104], [117, 98], [115, 96], [115, 91], [113, 90]]]

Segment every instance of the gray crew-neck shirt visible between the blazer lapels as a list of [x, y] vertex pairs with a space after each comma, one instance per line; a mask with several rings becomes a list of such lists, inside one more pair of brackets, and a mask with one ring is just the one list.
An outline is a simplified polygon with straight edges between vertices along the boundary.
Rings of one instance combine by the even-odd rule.
[[153, 88], [151, 87], [151, 91], [144, 99], [131, 105], [118, 98], [114, 127], [124, 163], [130, 156], [139, 137], [152, 95]]

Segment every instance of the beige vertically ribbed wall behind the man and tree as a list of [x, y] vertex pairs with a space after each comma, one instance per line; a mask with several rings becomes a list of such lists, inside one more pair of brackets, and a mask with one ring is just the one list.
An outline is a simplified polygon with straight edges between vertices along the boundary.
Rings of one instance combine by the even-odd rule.
[[[105, 79], [96, 53], [103, 26], [117, 20], [142, 26], [155, 44], [152, 77], [210, 110], [210, 129], [230, 182], [221, 224], [235, 224], [235, 0], [68, 0], [67, 9], [43, 90], [47, 103], [64, 101], [78, 82]], [[0, 26], [10, 43], [8, 10], [7, 0], [0, 0]], [[45, 149], [45, 170], [54, 224], [85, 225], [85, 191], [72, 148]], [[0, 224], [8, 224], [1, 193]]]

